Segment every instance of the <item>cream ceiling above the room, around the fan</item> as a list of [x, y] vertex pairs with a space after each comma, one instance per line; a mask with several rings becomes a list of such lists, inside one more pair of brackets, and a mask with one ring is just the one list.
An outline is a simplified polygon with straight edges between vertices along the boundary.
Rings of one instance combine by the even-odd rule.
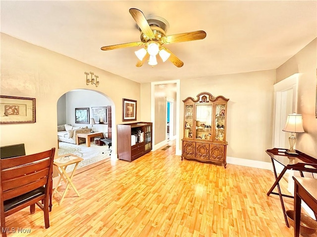
[[[4, 1], [1, 32], [138, 82], [197, 79], [276, 69], [317, 37], [317, 1]], [[166, 44], [183, 62], [135, 66], [140, 41], [129, 8], [158, 15], [166, 35], [204, 30], [207, 37]], [[89, 69], [83, 69], [87, 71]]]

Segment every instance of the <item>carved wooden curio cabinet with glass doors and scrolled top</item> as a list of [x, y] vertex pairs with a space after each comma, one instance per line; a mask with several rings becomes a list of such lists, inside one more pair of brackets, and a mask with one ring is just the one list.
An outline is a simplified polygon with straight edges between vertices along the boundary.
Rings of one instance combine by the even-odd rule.
[[182, 159], [224, 165], [226, 167], [227, 102], [223, 96], [208, 92], [187, 97], [184, 102], [184, 138]]

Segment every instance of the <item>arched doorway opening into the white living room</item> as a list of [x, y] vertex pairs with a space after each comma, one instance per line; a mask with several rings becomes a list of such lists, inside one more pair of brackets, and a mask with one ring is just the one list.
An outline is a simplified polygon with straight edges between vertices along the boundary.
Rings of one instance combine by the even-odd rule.
[[[71, 153], [84, 158], [79, 168], [111, 158], [113, 154], [108, 149], [108, 145], [102, 146], [102, 143], [94, 142], [104, 136], [113, 137], [112, 121], [115, 121], [115, 118], [114, 103], [111, 98], [100, 91], [75, 89], [60, 96], [56, 109], [57, 130], [63, 129], [63, 126], [65, 127], [64, 130], [57, 131], [58, 155]], [[83, 112], [84, 119], [76, 119], [76, 111]], [[92, 124], [92, 118], [94, 118], [95, 124]], [[76, 144], [77, 132], [90, 133], [91, 131], [94, 134], [98, 133], [98, 135], [96, 134], [96, 137], [91, 138], [89, 147], [85, 138], [78, 138], [79, 145]]]

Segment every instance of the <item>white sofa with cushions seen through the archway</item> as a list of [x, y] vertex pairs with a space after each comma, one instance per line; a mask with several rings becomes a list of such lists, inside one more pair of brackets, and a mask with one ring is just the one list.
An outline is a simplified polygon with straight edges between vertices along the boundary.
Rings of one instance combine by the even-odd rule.
[[[77, 133], [90, 133], [91, 129], [87, 126], [77, 127], [69, 124], [57, 126], [57, 139], [60, 142], [76, 144]], [[79, 143], [85, 142], [85, 138], [79, 138]]]

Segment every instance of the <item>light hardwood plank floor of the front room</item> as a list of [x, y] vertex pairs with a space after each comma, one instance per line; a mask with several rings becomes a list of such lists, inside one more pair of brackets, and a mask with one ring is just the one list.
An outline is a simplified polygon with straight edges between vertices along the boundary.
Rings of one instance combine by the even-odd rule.
[[[81, 196], [70, 189], [60, 206], [53, 197], [49, 229], [38, 207], [33, 215], [26, 208], [7, 217], [6, 225], [31, 233], [8, 237], [293, 236], [279, 197], [266, 196], [274, 181], [271, 171], [182, 161], [170, 145], [133, 162], [106, 161], [78, 170], [73, 182]], [[283, 179], [282, 184], [287, 193]], [[293, 209], [293, 199], [284, 200], [286, 209]]]

